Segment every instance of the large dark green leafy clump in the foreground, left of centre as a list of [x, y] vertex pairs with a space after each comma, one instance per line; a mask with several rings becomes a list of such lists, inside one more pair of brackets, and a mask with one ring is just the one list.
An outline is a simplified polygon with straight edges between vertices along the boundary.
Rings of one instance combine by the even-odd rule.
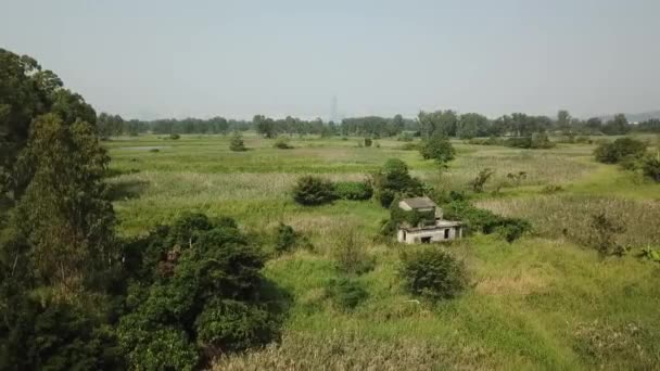
[[[263, 254], [233, 220], [189, 214], [134, 246], [119, 344], [132, 368], [193, 369], [202, 356], [242, 350], [278, 332], [279, 304]], [[272, 290], [272, 289], [268, 289]]]

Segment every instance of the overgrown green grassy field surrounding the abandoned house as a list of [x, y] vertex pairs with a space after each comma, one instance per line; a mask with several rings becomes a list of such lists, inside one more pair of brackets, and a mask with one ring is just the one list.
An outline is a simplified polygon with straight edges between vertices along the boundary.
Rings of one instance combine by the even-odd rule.
[[[248, 231], [284, 222], [314, 245], [265, 268], [293, 297], [281, 343], [219, 359], [217, 369], [660, 368], [660, 265], [634, 253], [601, 259], [573, 239], [591, 214], [604, 210], [625, 226], [620, 239], [635, 251], [660, 247], [660, 186], [594, 163], [588, 144], [530, 151], [456, 142], [457, 159], [440, 174], [402, 142], [357, 142], [293, 139], [294, 149], [277, 150], [274, 140], [248, 135], [244, 153], [229, 151], [221, 136], [105, 142], [124, 235], [193, 210], [234, 217]], [[289, 194], [303, 174], [360, 180], [390, 157], [436, 189], [466, 190], [479, 170], [495, 169], [477, 204], [528, 218], [534, 232], [513, 244], [473, 235], [446, 245], [466, 261], [470, 289], [436, 305], [417, 302], [396, 276], [405, 247], [375, 239], [385, 209], [346, 201], [302, 207]], [[506, 183], [518, 171], [526, 179]], [[561, 189], [547, 194], [547, 184]], [[346, 234], [376, 261], [358, 278], [369, 297], [351, 312], [325, 295], [327, 282], [341, 274], [335, 252]]]

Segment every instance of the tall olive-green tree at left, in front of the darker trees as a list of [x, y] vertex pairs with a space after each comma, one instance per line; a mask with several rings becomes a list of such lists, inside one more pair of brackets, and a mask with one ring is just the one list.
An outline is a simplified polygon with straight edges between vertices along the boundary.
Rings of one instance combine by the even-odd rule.
[[48, 114], [33, 123], [20, 168], [31, 180], [13, 216], [29, 242], [36, 278], [65, 296], [93, 282], [117, 259], [115, 217], [103, 183], [110, 157], [90, 124]]

